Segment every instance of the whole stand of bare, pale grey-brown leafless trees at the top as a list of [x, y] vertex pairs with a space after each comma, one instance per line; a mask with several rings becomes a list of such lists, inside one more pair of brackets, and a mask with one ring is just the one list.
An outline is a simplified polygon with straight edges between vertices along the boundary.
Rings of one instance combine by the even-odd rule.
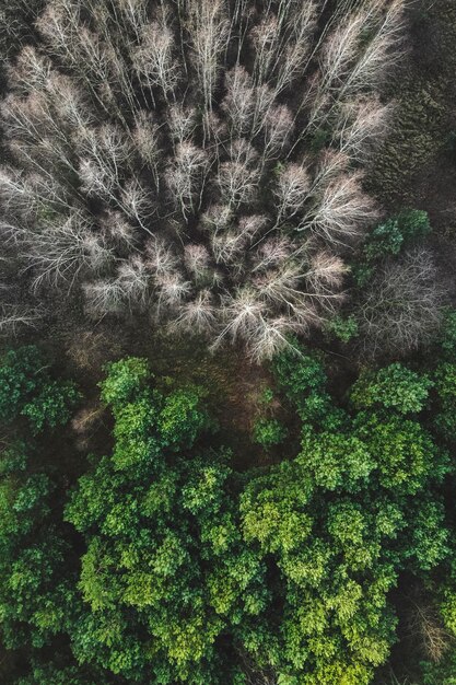
[[363, 166], [404, 1], [43, 2], [0, 105], [0, 237], [32, 289], [255, 359], [321, 325], [378, 216]]

